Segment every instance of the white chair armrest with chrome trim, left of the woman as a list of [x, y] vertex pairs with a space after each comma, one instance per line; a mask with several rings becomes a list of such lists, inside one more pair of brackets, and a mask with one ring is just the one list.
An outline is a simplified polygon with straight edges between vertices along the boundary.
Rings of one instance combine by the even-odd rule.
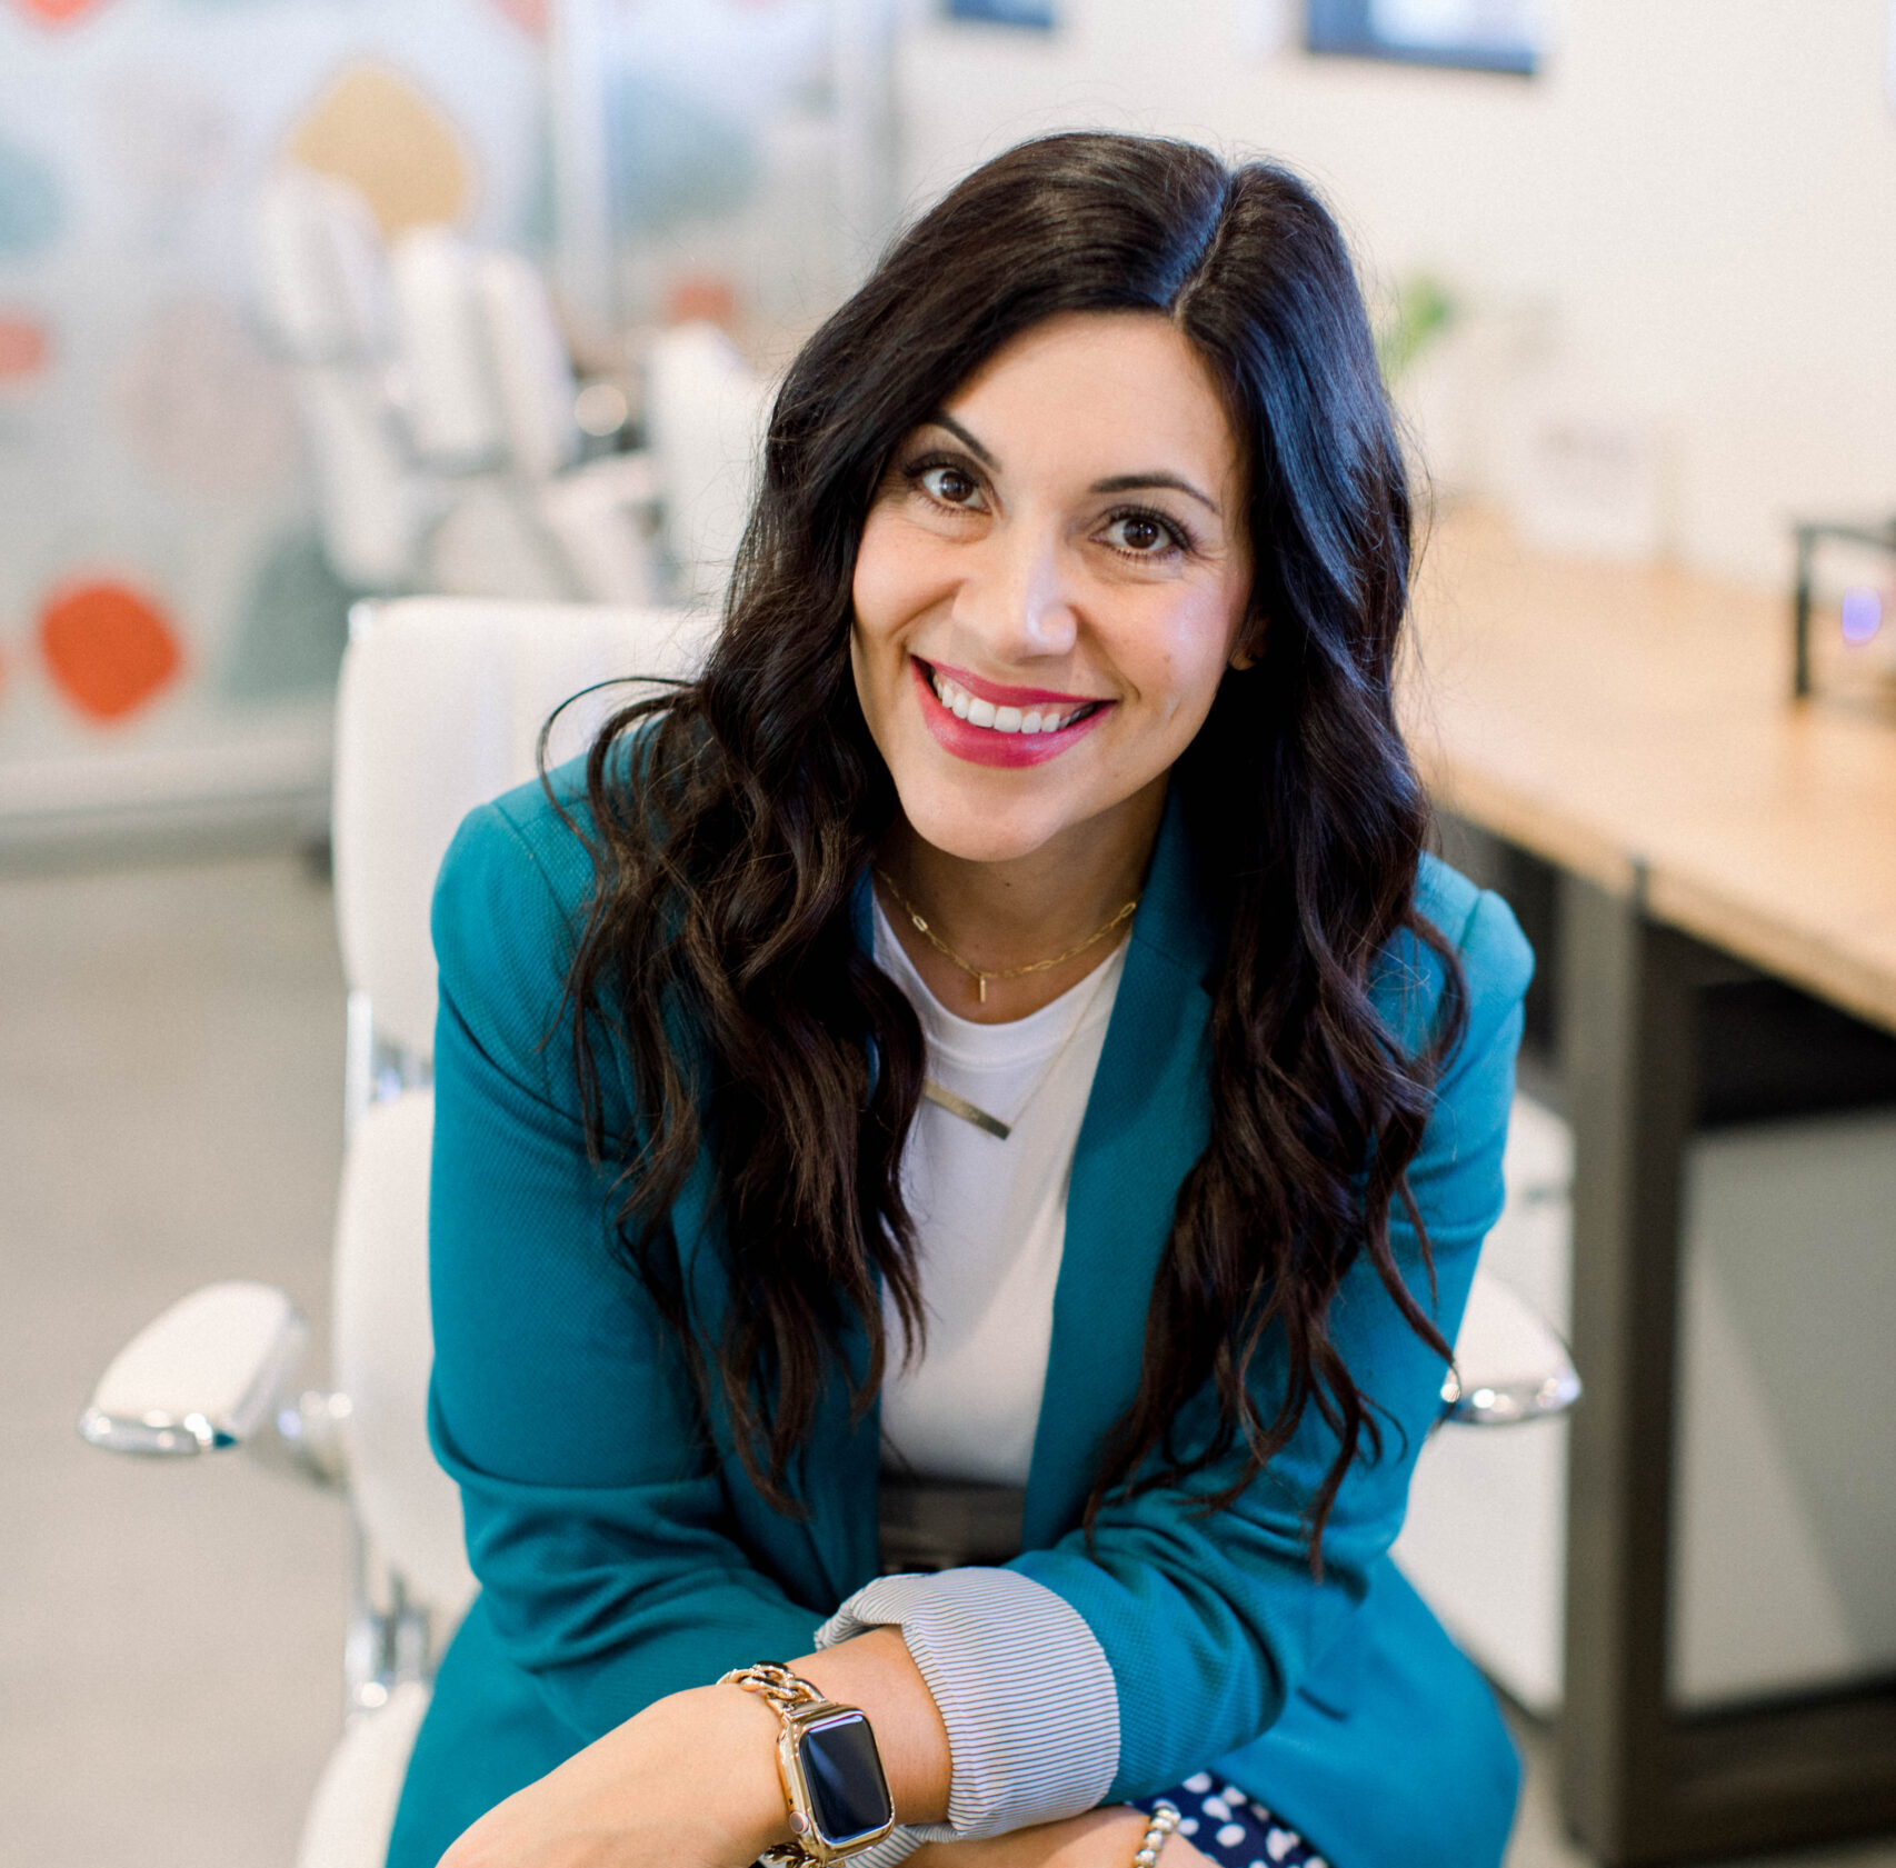
[[191, 1458], [245, 1447], [322, 1485], [341, 1483], [341, 1396], [290, 1394], [309, 1343], [296, 1305], [269, 1284], [205, 1284], [112, 1358], [80, 1436], [108, 1453]]

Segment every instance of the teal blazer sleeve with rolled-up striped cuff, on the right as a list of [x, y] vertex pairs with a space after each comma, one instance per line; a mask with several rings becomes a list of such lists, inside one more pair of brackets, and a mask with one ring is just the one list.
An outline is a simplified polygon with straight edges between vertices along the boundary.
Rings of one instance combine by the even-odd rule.
[[[1409, 1168], [1433, 1255], [1433, 1299], [1414, 1227], [1399, 1214], [1390, 1225], [1409, 1290], [1450, 1341], [1481, 1240], [1502, 1210], [1502, 1151], [1532, 973], [1505, 903], [1466, 884], [1460, 893], [1468, 1028]], [[1439, 961], [1407, 946], [1388, 958], [1382, 984], [1382, 998], [1403, 1015], [1392, 1020], [1397, 1037], [1420, 1041], [1439, 999]], [[829, 1640], [874, 1621], [902, 1625], [950, 1716], [957, 1830], [988, 1834], [1153, 1794], [1276, 1722], [1365, 1599], [1373, 1566], [1401, 1529], [1409, 1475], [1441, 1407], [1441, 1360], [1367, 1259], [1339, 1290], [1331, 1333], [1373, 1401], [1380, 1451], [1359, 1453], [1337, 1494], [1322, 1580], [1312, 1576], [1303, 1525], [1339, 1439], [1318, 1409], [1306, 1409], [1293, 1441], [1229, 1508], [1204, 1510], [1229, 1477], [1213, 1470], [1187, 1487], [1107, 1506], [1090, 1548], [1075, 1532], [1001, 1574], [889, 1578], [859, 1591], [829, 1623]], [[1278, 1360], [1259, 1384], [1267, 1411], [1282, 1383]], [[1196, 1419], [1179, 1422], [1181, 1439], [1206, 1434], [1212, 1419], [1212, 1398], [1202, 1396]], [[980, 1584], [984, 1574], [994, 1584]], [[1052, 1718], [1041, 1711], [1050, 1699], [1060, 1701]], [[1014, 1716], [1022, 1709], [1037, 1716]], [[965, 1802], [957, 1726], [995, 1786], [976, 1794], [969, 1785]], [[1048, 1745], [1050, 1730], [1060, 1743]]]

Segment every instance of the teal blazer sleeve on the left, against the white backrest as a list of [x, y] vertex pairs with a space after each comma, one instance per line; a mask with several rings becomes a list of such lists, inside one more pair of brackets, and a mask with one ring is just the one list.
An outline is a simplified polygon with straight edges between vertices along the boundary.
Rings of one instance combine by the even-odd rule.
[[537, 789], [483, 806], [436, 888], [428, 1426], [502, 1650], [590, 1741], [804, 1652], [821, 1612], [732, 1538], [688, 1371], [612, 1252], [563, 1022], [590, 869], [556, 823]]

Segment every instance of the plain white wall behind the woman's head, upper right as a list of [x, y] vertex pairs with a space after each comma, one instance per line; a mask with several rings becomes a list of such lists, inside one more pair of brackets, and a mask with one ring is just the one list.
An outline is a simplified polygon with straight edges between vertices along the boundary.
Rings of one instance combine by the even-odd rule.
[[1469, 307], [1454, 383], [1414, 396], [1449, 482], [1507, 493], [1511, 427], [1564, 404], [1648, 449], [1653, 542], [1710, 569], [1778, 580], [1792, 514], [1896, 506], [1885, 0], [1566, 0], [1530, 82], [1259, 55], [1274, 9], [1064, 0], [1050, 38], [918, 23], [912, 201], [1047, 127], [1278, 156], [1373, 275], [1428, 269]]

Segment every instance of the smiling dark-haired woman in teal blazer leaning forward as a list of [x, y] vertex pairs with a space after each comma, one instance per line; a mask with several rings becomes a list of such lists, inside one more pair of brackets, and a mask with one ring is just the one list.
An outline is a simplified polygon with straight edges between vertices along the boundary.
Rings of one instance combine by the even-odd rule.
[[[1384, 1555], [1528, 977], [1422, 855], [1407, 571], [1278, 169], [1030, 142], [810, 341], [703, 679], [442, 872], [483, 1591], [394, 1868], [823, 1855], [876, 1756], [878, 1864], [1500, 1860], [1513, 1752]], [[878, 1580], [916, 1474], [1024, 1485], [1018, 1553]], [[815, 1815], [766, 1659], [861, 1712]]]

